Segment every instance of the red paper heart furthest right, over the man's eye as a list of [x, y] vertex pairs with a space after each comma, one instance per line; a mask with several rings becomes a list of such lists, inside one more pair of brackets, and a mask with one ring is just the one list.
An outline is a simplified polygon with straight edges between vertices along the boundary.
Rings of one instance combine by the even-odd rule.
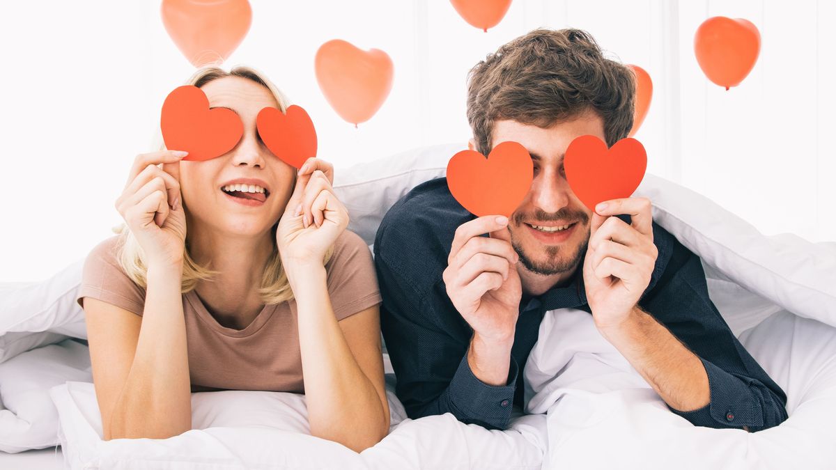
[[647, 153], [639, 140], [626, 138], [607, 145], [594, 135], [572, 140], [563, 158], [572, 191], [589, 210], [599, 202], [630, 197], [647, 169]]

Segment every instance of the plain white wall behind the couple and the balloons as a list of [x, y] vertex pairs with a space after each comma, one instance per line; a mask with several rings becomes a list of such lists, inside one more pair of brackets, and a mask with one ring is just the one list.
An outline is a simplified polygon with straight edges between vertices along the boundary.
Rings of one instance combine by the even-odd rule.
[[[719, 202], [767, 234], [836, 240], [836, 3], [826, 0], [514, 0], [483, 33], [446, 0], [252, 2], [226, 65], [263, 70], [317, 125], [319, 156], [349, 166], [470, 137], [466, 73], [540, 26], [583, 28], [610, 57], [648, 70], [655, 91], [636, 138], [649, 171]], [[694, 32], [711, 16], [762, 34], [752, 74], [726, 91], [701, 73]], [[319, 46], [342, 38], [395, 63], [389, 99], [354, 129], [314, 77]], [[130, 161], [152, 150], [162, 100], [193, 71], [159, 0], [0, 3], [0, 281], [46, 278], [120, 222]]]

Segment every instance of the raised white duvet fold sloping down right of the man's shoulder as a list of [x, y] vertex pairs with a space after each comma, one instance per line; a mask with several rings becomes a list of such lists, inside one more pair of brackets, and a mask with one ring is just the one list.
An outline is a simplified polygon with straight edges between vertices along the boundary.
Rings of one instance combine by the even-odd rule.
[[635, 196], [649, 198], [653, 220], [704, 265], [794, 314], [836, 326], [836, 243], [811, 243], [791, 233], [767, 237], [707, 197], [659, 176], [645, 176]]

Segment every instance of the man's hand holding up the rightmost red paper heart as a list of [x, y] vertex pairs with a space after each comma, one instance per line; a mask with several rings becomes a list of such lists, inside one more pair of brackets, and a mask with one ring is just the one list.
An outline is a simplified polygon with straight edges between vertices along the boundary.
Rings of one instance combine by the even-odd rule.
[[[595, 209], [584, 284], [595, 325], [605, 335], [630, 318], [650, 284], [658, 251], [653, 243], [650, 199], [612, 199]], [[630, 215], [630, 225], [614, 217], [619, 214]]]

